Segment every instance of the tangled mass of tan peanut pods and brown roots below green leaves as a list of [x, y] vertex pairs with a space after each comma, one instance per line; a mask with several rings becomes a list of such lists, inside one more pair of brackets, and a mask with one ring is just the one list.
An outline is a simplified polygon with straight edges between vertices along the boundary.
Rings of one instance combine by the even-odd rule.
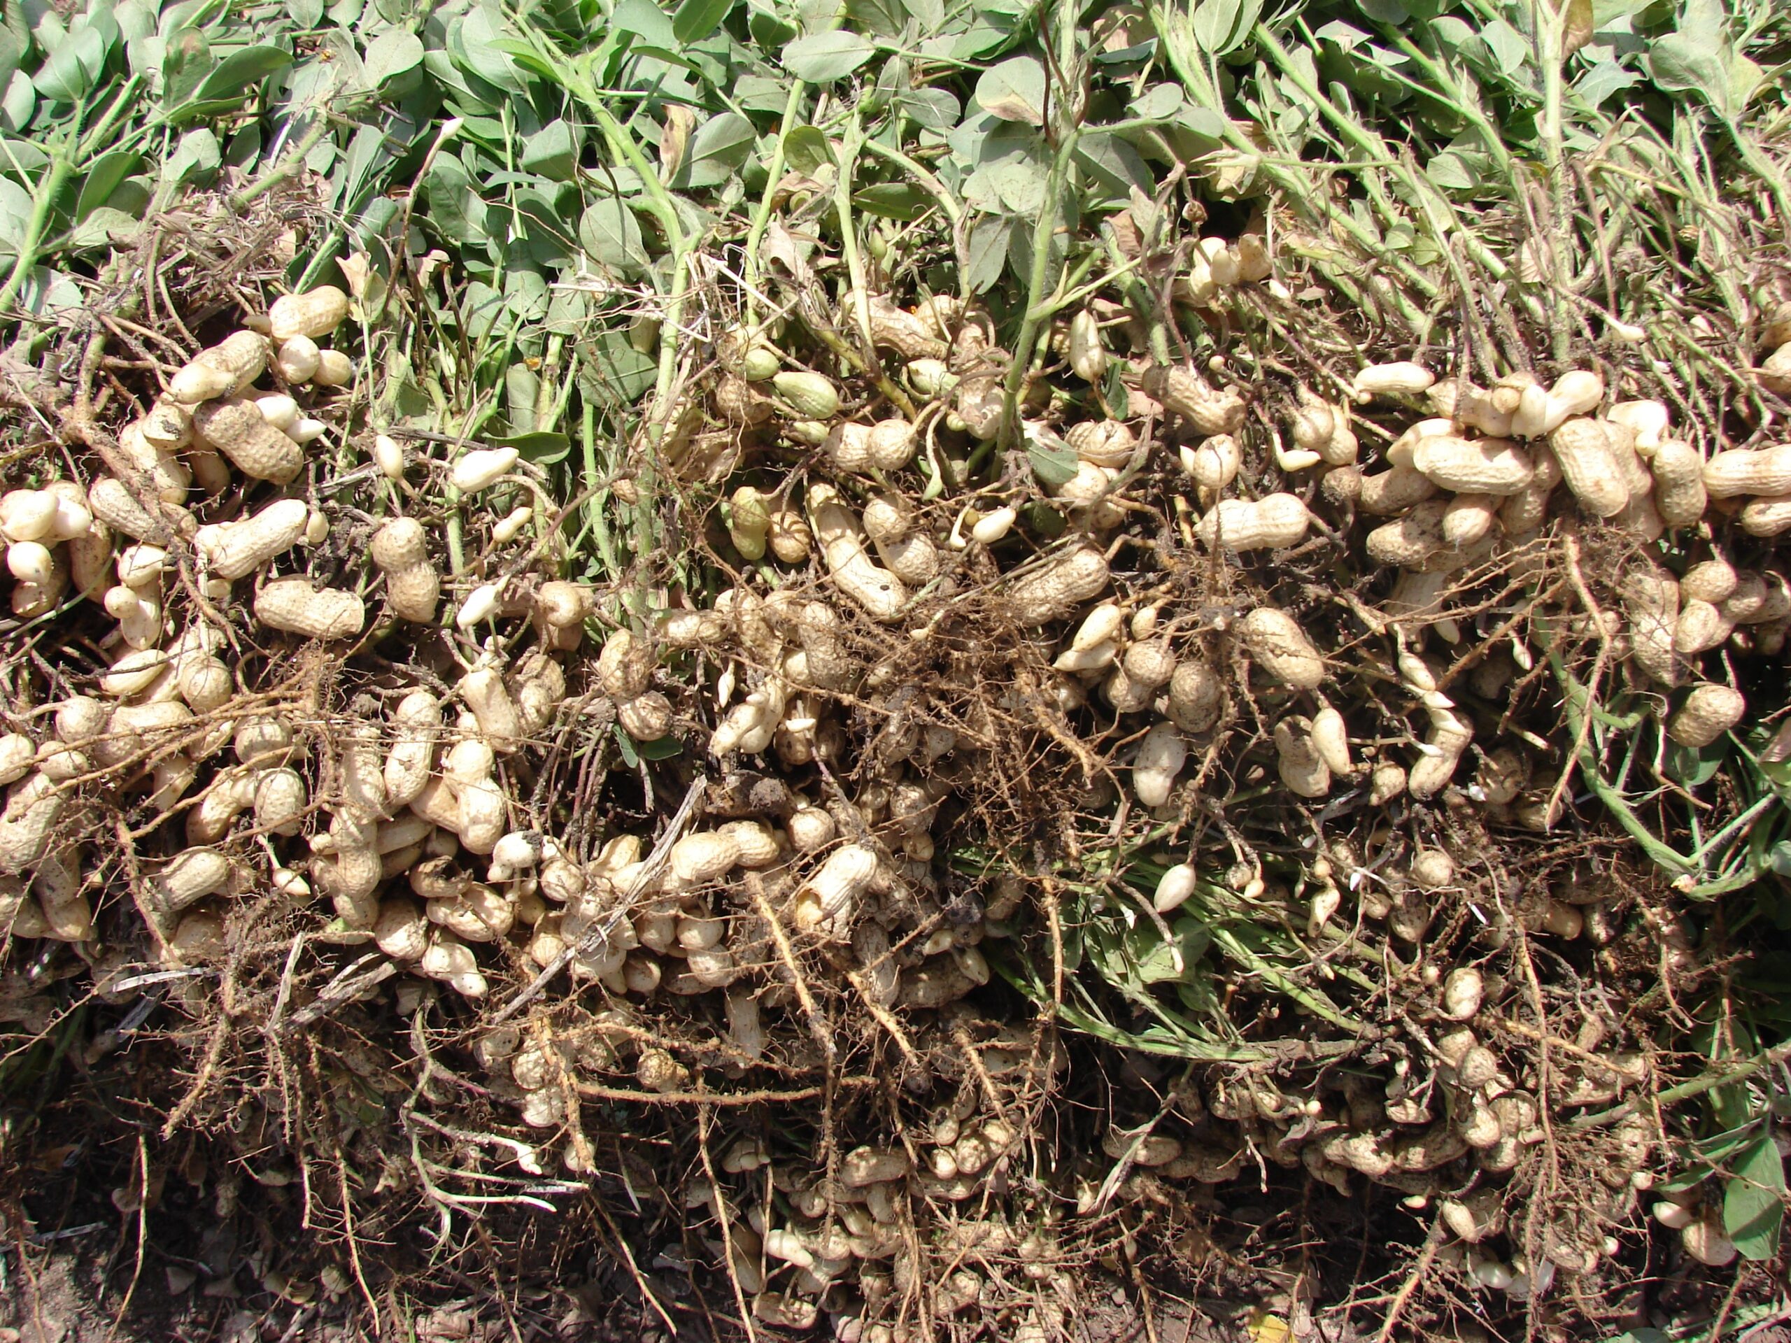
[[801, 156], [582, 469], [392, 414], [416, 256], [16, 381], [11, 1015], [163, 994], [163, 1132], [340, 1214], [353, 1287], [263, 1279], [374, 1314], [356, 1236], [586, 1196], [844, 1339], [1057, 1338], [1157, 1261], [1298, 1316], [1252, 1216], [1365, 1189], [1386, 1336], [1771, 1259], [1770, 915], [1712, 913], [1784, 824], [1770, 270], [1689, 364], [1562, 319], [1558, 235], [1352, 306], [1291, 183], [1184, 238], [1171, 179], [1015, 304], [956, 206], [872, 235]]

